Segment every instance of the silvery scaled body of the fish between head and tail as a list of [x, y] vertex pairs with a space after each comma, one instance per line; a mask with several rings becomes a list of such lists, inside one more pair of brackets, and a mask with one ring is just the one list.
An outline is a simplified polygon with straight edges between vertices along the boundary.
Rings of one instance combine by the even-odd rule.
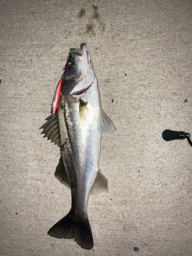
[[[100, 133], [97, 132], [97, 124], [94, 125], [96, 115], [93, 115], [91, 108], [87, 108], [90, 115], [86, 113], [87, 118], [80, 119], [79, 105], [80, 100], [73, 102], [66, 99], [65, 105], [57, 113], [59, 131], [66, 126], [65, 131], [60, 134], [61, 154], [71, 184], [74, 218], [82, 218], [87, 210], [91, 184], [98, 170], [100, 151]], [[97, 150], [95, 148], [96, 152], [92, 151], [93, 144], [98, 147]]]

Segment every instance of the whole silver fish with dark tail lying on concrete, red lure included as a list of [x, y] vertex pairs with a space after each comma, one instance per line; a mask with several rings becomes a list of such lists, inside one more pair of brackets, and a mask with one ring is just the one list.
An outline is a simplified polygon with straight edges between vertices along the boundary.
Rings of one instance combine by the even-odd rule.
[[61, 84], [56, 88], [58, 105], [54, 101], [54, 113], [40, 129], [44, 137], [60, 147], [55, 177], [71, 189], [72, 200], [69, 213], [48, 234], [74, 239], [81, 248], [90, 250], [94, 241], [87, 212], [89, 196], [109, 192], [108, 179], [98, 167], [101, 133], [115, 131], [115, 126], [101, 109], [98, 82], [86, 44], [70, 49], [63, 70]]

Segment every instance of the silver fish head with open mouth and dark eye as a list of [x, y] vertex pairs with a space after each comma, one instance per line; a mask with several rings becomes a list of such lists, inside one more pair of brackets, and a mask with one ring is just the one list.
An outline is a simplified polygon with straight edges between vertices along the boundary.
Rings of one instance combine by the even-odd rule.
[[62, 94], [66, 98], [78, 100], [90, 89], [94, 77], [93, 63], [86, 44], [81, 44], [80, 49], [70, 49], [63, 73]]

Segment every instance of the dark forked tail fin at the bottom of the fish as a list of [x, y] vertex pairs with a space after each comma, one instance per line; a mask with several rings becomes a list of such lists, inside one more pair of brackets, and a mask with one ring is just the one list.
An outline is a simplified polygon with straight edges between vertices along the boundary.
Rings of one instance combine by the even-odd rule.
[[74, 222], [70, 218], [70, 214], [71, 212], [50, 228], [48, 234], [55, 238], [74, 238], [75, 242], [83, 249], [92, 249], [93, 236], [89, 219], [86, 218], [83, 222]]

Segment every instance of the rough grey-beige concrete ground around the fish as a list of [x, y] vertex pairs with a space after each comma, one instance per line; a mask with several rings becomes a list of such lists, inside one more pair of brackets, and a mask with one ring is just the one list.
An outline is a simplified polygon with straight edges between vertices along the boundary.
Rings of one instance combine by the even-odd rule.
[[[192, 148], [161, 137], [192, 134], [191, 10], [191, 0], [0, 1], [1, 255], [192, 255]], [[102, 134], [110, 194], [90, 197], [91, 251], [47, 235], [71, 196], [54, 177], [59, 149], [38, 130], [82, 42], [117, 128]]]

